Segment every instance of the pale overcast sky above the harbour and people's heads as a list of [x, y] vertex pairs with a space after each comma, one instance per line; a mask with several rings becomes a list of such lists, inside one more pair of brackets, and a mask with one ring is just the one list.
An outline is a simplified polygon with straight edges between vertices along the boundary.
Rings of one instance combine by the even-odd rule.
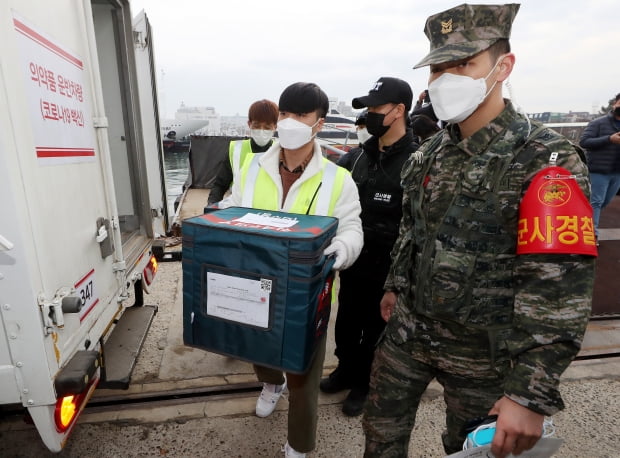
[[[160, 103], [246, 115], [297, 81], [351, 103], [380, 76], [427, 86], [429, 15], [446, 0], [131, 0], [154, 32]], [[480, 2], [479, 2], [480, 3]], [[491, 2], [485, 2], [491, 3]], [[528, 113], [598, 111], [620, 92], [618, 0], [522, 0], [512, 28], [517, 103]], [[162, 76], [163, 75], [163, 76]]]

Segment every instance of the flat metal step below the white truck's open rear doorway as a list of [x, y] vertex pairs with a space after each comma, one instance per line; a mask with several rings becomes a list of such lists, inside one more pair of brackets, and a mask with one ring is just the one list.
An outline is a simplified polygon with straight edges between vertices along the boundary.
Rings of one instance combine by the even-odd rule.
[[129, 388], [131, 373], [155, 313], [155, 305], [130, 307], [125, 310], [103, 345], [103, 377], [99, 388]]

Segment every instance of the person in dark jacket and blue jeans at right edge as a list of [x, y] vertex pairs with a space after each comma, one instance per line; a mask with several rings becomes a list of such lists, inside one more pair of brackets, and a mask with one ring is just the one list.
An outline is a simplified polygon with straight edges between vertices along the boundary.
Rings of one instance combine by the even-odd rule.
[[598, 238], [601, 210], [620, 190], [620, 93], [616, 95], [610, 113], [588, 123], [579, 146], [586, 150], [588, 157], [592, 185], [590, 203]]

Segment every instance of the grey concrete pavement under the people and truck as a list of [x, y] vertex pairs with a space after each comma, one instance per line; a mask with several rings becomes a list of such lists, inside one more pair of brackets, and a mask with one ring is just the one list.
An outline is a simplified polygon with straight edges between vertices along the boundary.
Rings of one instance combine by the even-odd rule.
[[[162, 263], [156, 291], [145, 302], [159, 312], [138, 360], [128, 393], [173, 388], [231, 386], [255, 382], [250, 364], [183, 346], [181, 265]], [[335, 313], [332, 314], [335, 317]], [[325, 372], [335, 365], [330, 326]], [[620, 338], [618, 333], [609, 333]], [[609, 337], [607, 337], [609, 338]], [[126, 394], [122, 392], [120, 394]], [[565, 440], [558, 457], [620, 457], [620, 358], [573, 363], [563, 376], [566, 410], [554, 417]], [[96, 396], [116, 395], [98, 390]], [[46, 451], [33, 427], [0, 423], [1, 457], [281, 457], [286, 441], [284, 398], [270, 417], [254, 415], [258, 391], [199, 402], [183, 400], [156, 408], [142, 405], [82, 415], [60, 455]], [[340, 411], [344, 393], [321, 395], [318, 444], [309, 457], [361, 457], [360, 418]], [[410, 457], [442, 457], [440, 433], [445, 405], [432, 384], [423, 400], [410, 444]]]

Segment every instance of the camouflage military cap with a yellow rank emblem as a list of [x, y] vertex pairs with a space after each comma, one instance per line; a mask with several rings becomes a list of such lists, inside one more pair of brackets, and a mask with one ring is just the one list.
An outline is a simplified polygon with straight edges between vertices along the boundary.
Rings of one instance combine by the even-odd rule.
[[431, 42], [431, 51], [413, 68], [465, 59], [497, 40], [510, 38], [519, 6], [463, 4], [430, 16], [424, 33]]

